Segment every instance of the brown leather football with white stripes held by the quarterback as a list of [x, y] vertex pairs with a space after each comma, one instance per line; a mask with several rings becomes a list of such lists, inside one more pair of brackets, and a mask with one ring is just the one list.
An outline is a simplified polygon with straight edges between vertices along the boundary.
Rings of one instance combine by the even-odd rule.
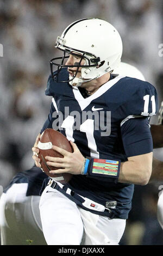
[[67, 183], [71, 178], [71, 173], [59, 173], [59, 174], [51, 174], [49, 170], [57, 170], [58, 168], [53, 166], [48, 166], [46, 163], [45, 156], [52, 156], [52, 157], [64, 157], [54, 149], [52, 149], [52, 145], [55, 145], [59, 148], [65, 149], [68, 152], [73, 152], [70, 142], [68, 139], [62, 135], [62, 133], [55, 131], [53, 129], [46, 129], [40, 136], [40, 140], [38, 143], [38, 148], [40, 153], [38, 157], [41, 160], [41, 169], [45, 172], [49, 177], [53, 178], [55, 181], [59, 181], [62, 184]]

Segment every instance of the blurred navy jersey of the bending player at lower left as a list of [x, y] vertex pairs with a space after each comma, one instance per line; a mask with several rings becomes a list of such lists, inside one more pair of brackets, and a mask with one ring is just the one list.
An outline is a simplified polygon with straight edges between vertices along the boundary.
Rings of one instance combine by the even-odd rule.
[[11, 180], [9, 186], [4, 189], [4, 193], [15, 183], [28, 183], [26, 196], [39, 196], [43, 181], [48, 176], [39, 167], [33, 166], [29, 170], [17, 173]]

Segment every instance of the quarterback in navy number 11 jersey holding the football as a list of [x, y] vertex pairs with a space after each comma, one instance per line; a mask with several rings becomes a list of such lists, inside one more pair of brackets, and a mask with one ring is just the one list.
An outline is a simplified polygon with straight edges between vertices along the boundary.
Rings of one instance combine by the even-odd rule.
[[[53, 97], [49, 118], [56, 124], [52, 114], [56, 109], [59, 130], [74, 151], [53, 146], [64, 158], [46, 160], [58, 168], [50, 173], [64, 169], [74, 175], [64, 186], [51, 179], [43, 191], [43, 233], [48, 245], [117, 245], [134, 184], [146, 185], [151, 176], [149, 119], [158, 109], [156, 90], [148, 82], [114, 74], [121, 62], [122, 40], [106, 21], [72, 23], [55, 47], [64, 56], [51, 60], [46, 89], [46, 95]], [[39, 153], [36, 147], [33, 151]], [[38, 157], [33, 158], [39, 164]]]

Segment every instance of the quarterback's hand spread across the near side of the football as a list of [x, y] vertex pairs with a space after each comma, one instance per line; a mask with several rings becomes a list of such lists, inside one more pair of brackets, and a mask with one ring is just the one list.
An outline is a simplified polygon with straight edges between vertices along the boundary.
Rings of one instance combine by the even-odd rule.
[[71, 173], [71, 174], [81, 174], [81, 170], [84, 163], [84, 156], [80, 153], [77, 145], [70, 141], [73, 153], [70, 153], [64, 149], [61, 149], [57, 146], [53, 146], [53, 149], [59, 152], [64, 158], [60, 157], [51, 157], [46, 156], [45, 159], [48, 160], [48, 166], [54, 166], [59, 169], [51, 170], [49, 173], [57, 174], [57, 173]]

